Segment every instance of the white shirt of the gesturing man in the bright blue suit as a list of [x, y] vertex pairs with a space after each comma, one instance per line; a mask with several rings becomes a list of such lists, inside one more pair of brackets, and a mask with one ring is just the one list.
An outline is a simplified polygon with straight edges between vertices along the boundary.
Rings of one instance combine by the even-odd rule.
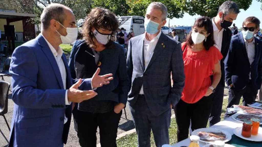
[[[43, 35], [42, 35], [43, 36]], [[46, 40], [46, 38], [43, 36], [43, 38]], [[56, 51], [56, 49], [54, 49], [54, 47], [46, 40], [46, 43], [48, 44], [49, 48], [51, 49], [51, 52], [54, 55], [54, 58], [56, 59], [56, 63], [58, 65], [59, 71], [61, 73], [61, 77], [62, 77], [62, 81], [63, 81], [63, 86], [64, 89], [66, 89], [66, 77], [67, 77], [67, 73], [65, 71], [65, 65], [64, 62], [62, 60], [62, 55], [63, 55], [63, 50], [61, 49], [61, 47], [58, 46], [58, 51]], [[68, 101], [67, 98], [67, 90], [65, 91], [65, 105], [70, 105], [71, 102]], [[64, 118], [64, 124], [67, 122], [68, 118], [65, 117]]]

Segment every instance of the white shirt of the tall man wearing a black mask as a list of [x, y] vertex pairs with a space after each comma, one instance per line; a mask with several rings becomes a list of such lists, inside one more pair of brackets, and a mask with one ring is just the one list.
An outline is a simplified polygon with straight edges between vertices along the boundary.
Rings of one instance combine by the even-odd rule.
[[224, 29], [222, 28], [221, 30], [219, 30], [217, 28], [214, 20], [215, 20], [215, 18], [212, 18], [212, 25], [213, 25], [213, 31], [214, 31], [214, 41], [215, 41], [214, 46], [221, 52]]

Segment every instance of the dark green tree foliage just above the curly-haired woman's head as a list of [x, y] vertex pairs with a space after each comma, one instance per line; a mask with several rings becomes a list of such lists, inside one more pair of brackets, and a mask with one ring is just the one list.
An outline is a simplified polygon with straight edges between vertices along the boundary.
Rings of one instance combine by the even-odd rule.
[[129, 5], [126, 0], [93, 0], [92, 8], [102, 7], [111, 10], [117, 16], [128, 15]]

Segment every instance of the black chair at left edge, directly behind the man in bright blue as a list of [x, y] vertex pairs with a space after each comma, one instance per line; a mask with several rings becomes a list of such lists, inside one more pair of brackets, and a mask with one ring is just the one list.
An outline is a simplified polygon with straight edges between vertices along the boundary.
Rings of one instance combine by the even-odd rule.
[[10, 84], [6, 81], [0, 81], [0, 115], [4, 117], [6, 121], [6, 125], [10, 131], [10, 127], [6, 120], [4, 114], [7, 114], [8, 107], [8, 92], [9, 92]]

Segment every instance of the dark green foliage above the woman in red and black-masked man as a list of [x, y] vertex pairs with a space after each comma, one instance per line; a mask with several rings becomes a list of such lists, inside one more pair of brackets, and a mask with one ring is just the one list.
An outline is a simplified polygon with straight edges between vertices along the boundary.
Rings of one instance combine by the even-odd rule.
[[[219, 6], [226, 0], [189, 0], [186, 2], [186, 12], [189, 15], [208, 16], [210, 18], [217, 15]], [[233, 0], [237, 3], [239, 9], [247, 10], [252, 0]], [[259, 1], [259, 0], [258, 0]], [[261, 0], [262, 1], [262, 0]]]

